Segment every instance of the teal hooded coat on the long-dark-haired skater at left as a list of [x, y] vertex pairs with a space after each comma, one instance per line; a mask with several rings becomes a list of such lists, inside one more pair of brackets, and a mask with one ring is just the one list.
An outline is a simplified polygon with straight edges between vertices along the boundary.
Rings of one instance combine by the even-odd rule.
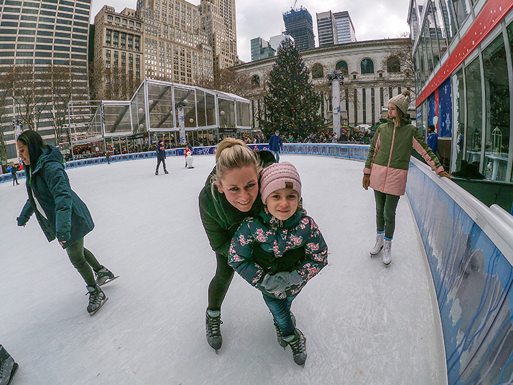
[[[48, 146], [39, 157], [31, 177], [27, 178], [29, 199], [18, 217], [18, 226], [26, 224], [36, 213], [48, 241], [57, 237], [66, 242], [63, 248], [67, 248], [89, 233], [94, 223], [86, 204], [71, 189], [63, 163], [61, 153], [53, 146]], [[34, 197], [40, 204], [39, 210]]]

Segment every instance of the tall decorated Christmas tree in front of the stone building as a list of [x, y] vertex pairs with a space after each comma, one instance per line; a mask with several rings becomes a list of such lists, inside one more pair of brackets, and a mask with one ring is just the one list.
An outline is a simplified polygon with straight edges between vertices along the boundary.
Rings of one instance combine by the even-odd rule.
[[324, 118], [319, 115], [321, 96], [313, 89], [310, 71], [290, 39], [278, 47], [267, 91], [262, 122], [266, 137], [279, 130], [282, 137], [292, 134], [295, 140], [302, 140], [324, 128]]

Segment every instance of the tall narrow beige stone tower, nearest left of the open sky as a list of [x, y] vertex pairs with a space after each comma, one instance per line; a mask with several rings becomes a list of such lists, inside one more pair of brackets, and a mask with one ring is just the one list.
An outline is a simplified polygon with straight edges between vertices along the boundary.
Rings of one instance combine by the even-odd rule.
[[201, 0], [201, 29], [212, 47], [213, 67], [223, 69], [239, 64], [235, 0]]

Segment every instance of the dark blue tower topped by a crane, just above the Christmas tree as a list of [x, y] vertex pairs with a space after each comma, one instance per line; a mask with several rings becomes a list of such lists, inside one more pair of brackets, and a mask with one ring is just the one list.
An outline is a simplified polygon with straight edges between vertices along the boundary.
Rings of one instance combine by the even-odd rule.
[[298, 51], [315, 48], [312, 16], [306, 8], [290, 10], [283, 14], [285, 31], [293, 37]]

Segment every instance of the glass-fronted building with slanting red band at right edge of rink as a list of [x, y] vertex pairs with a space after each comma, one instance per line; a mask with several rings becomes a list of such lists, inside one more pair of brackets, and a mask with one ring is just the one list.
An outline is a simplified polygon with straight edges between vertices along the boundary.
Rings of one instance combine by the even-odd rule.
[[408, 23], [419, 129], [436, 127], [455, 175], [513, 183], [513, 3], [412, 0]]

